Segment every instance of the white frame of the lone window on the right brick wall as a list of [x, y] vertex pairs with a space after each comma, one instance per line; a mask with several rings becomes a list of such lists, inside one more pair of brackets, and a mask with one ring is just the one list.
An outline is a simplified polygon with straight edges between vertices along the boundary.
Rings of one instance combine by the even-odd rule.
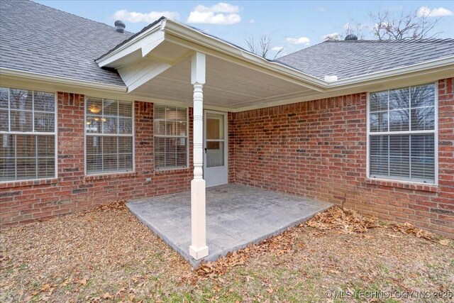
[[[370, 131], [370, 94], [375, 93], [375, 92], [367, 92], [367, 102], [366, 102], [366, 123], [367, 123], [367, 153], [366, 153], [366, 170], [367, 170], [367, 179], [369, 180], [379, 180], [379, 181], [387, 181], [387, 182], [399, 182], [399, 183], [411, 183], [411, 184], [421, 184], [421, 185], [438, 185], [438, 82], [425, 82], [421, 84], [413, 84], [407, 87], [395, 87], [391, 89], [384, 89], [381, 91], [376, 91], [376, 92], [389, 92], [394, 89], [404, 89], [404, 88], [409, 88], [410, 94], [411, 94], [411, 87], [418, 87], [421, 85], [428, 85], [428, 84], [434, 84], [434, 104], [433, 104], [433, 111], [434, 111], [434, 128], [433, 130], [424, 130], [424, 131], [375, 131], [371, 132]], [[389, 95], [388, 95], [389, 98]], [[409, 102], [411, 100], [409, 99]], [[410, 111], [409, 111], [410, 112]], [[389, 111], [388, 111], [389, 113]], [[409, 115], [409, 125], [411, 127], [411, 114]], [[388, 114], [388, 127], [389, 127], [389, 114]], [[389, 178], [377, 178], [377, 177], [370, 177], [370, 136], [371, 135], [412, 135], [412, 134], [424, 134], [424, 133], [433, 133], [433, 145], [434, 145], [434, 158], [433, 160], [435, 161], [435, 165], [433, 167], [434, 169], [434, 174], [433, 174], [433, 183], [428, 183], [428, 182], [418, 182], [418, 181], [412, 181], [412, 180], [404, 180], [399, 179], [398, 177], [389, 177]]]

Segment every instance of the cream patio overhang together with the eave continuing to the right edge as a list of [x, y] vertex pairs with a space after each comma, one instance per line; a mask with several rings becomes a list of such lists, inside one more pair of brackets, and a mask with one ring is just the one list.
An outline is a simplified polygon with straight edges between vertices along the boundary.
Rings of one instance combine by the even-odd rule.
[[454, 73], [454, 57], [445, 57], [327, 82], [167, 18], [150, 24], [96, 62], [117, 70], [128, 94], [189, 105], [195, 53], [206, 55], [204, 107], [223, 111], [423, 84]]

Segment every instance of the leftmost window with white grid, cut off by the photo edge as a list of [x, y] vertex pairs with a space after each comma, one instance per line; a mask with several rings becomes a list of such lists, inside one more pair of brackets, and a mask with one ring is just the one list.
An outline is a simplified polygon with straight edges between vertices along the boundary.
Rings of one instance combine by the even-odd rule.
[[0, 182], [55, 177], [55, 93], [0, 87]]

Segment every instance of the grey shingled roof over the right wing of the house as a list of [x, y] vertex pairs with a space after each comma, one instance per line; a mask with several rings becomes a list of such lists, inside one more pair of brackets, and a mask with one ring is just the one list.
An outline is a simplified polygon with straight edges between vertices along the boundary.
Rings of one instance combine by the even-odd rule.
[[453, 55], [454, 39], [342, 40], [319, 43], [275, 62], [319, 79], [348, 79]]

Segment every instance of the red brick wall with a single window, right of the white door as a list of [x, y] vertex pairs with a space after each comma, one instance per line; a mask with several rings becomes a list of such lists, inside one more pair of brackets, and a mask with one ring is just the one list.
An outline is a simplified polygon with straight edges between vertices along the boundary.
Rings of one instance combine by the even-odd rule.
[[438, 82], [438, 187], [367, 180], [365, 93], [234, 114], [234, 181], [452, 237], [453, 86]]

